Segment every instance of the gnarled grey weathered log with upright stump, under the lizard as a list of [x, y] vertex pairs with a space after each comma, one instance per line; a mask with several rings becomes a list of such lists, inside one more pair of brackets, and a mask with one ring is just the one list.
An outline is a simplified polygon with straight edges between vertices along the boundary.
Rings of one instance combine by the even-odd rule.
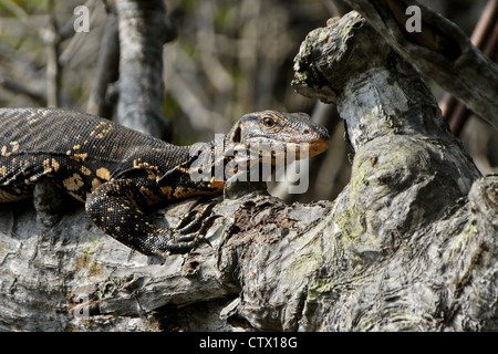
[[311, 32], [294, 70], [294, 87], [347, 125], [355, 157], [336, 200], [227, 191], [212, 248], [163, 266], [85, 227], [81, 209], [44, 230], [31, 208], [3, 206], [0, 329], [497, 330], [498, 181], [417, 72], [356, 12]]

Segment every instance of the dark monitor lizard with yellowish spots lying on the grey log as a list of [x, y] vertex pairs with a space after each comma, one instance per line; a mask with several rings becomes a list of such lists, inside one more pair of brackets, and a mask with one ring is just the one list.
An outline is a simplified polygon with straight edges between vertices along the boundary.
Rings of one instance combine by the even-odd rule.
[[[222, 192], [222, 180], [190, 178], [196, 156], [190, 156], [189, 146], [89, 114], [4, 108], [0, 127], [0, 202], [29, 198], [38, 181], [50, 178], [85, 202], [90, 218], [104, 232], [147, 256], [164, 259], [167, 253], [187, 252], [201, 239], [157, 228], [147, 212], [170, 201]], [[264, 111], [245, 115], [222, 143], [311, 143], [312, 156], [326, 149], [329, 139], [325, 128], [303, 115]], [[219, 143], [201, 144], [214, 150]]]

